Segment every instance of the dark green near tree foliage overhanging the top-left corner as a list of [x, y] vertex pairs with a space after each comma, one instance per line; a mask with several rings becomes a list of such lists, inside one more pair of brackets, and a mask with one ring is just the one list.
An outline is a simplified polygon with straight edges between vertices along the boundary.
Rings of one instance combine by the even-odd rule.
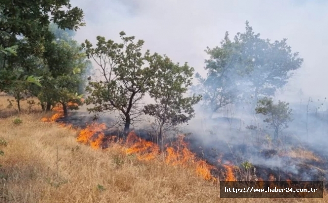
[[[79, 26], [85, 25], [83, 17], [83, 11], [77, 7], [72, 8], [69, 0], [46, 2], [2, 0], [0, 2], [0, 47], [3, 50], [17, 46], [23, 38], [25, 43], [20, 43], [16, 47], [18, 51], [23, 49], [20, 52], [23, 56], [18, 54], [17, 58], [42, 57], [44, 44], [53, 40], [48, 30], [51, 22], [57, 23], [63, 29], [76, 30]], [[40, 78], [33, 75], [21, 75], [25, 73], [25, 70], [8, 64], [7, 59], [8, 55], [5, 55], [0, 60], [0, 91], [4, 90], [4, 87], [15, 85], [17, 74], [20, 74], [22, 78], [25, 77], [27, 82], [40, 85]]]

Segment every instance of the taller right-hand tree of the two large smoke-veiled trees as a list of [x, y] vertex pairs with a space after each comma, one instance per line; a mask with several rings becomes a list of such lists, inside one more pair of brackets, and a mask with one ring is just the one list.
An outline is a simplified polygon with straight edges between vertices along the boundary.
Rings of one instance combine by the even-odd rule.
[[245, 67], [237, 82], [243, 98], [253, 98], [251, 103], [255, 107], [258, 96], [274, 95], [299, 69], [303, 59], [298, 52], [292, 52], [287, 39], [272, 43], [261, 39], [259, 33], [255, 35], [248, 21], [245, 24], [245, 32], [238, 32], [233, 42], [239, 47]]

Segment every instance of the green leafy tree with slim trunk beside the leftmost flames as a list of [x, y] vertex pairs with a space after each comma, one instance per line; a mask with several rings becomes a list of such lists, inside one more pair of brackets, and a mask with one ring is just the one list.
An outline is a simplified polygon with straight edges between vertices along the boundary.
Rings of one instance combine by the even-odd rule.
[[[52, 42], [47, 57], [48, 72], [44, 88], [39, 92], [40, 101], [45, 101], [47, 106], [60, 103], [63, 106], [64, 116], [67, 110], [78, 109], [81, 105], [83, 91], [80, 86], [86, 82], [84, 74], [91, 61], [87, 60], [85, 53], [81, 52], [76, 41], [58, 40]], [[45, 96], [46, 100], [43, 100]], [[68, 103], [75, 103], [68, 106]]]

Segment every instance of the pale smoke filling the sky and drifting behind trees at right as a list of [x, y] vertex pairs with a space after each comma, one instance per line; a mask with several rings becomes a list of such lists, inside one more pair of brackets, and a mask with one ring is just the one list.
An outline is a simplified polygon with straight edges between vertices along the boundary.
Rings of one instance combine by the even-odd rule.
[[[325, 153], [328, 115], [325, 113], [324, 98], [327, 95], [323, 87], [328, 86], [325, 78], [328, 75], [325, 68], [328, 44], [325, 36], [328, 13], [325, 11], [328, 2], [73, 0], [72, 4], [84, 10], [87, 22], [87, 26], [76, 33], [78, 42], [88, 39], [95, 44], [97, 36], [120, 41], [119, 32], [124, 30], [127, 36], [145, 40], [144, 50], [167, 54], [175, 62], [187, 61], [195, 68], [195, 73], [203, 77], [206, 76], [204, 59], [208, 58], [204, 52], [206, 47], [219, 46], [225, 31], [229, 31], [233, 39], [237, 32], [244, 31], [247, 20], [254, 32], [261, 34], [261, 39], [281, 41], [287, 38], [292, 52], [299, 52], [304, 62], [284, 88], [276, 92], [275, 101], [288, 101], [293, 109], [294, 121], [282, 137], [287, 144], [306, 143], [312, 149], [321, 150], [321, 154]], [[239, 91], [243, 91], [242, 87]], [[313, 102], [308, 105], [309, 97]], [[146, 96], [145, 103], [150, 102], [151, 99]], [[254, 151], [249, 157], [254, 164], [268, 167], [286, 165], [284, 160], [261, 157], [259, 149], [252, 146], [259, 137], [263, 141], [265, 134], [272, 131], [266, 128], [259, 115], [245, 114], [243, 109], [247, 108], [248, 105], [228, 105], [213, 115], [220, 118], [210, 120], [200, 105], [196, 105], [197, 116], [184, 130], [201, 136], [203, 144], [209, 147], [226, 143], [222, 146], [225, 148], [223, 151], [231, 154], [238, 153], [245, 145], [246, 151]], [[250, 125], [257, 126], [257, 132], [247, 129]], [[227, 148], [228, 144], [231, 148]], [[286, 171], [297, 174], [295, 165], [288, 166]], [[306, 175], [303, 177], [306, 178]]]

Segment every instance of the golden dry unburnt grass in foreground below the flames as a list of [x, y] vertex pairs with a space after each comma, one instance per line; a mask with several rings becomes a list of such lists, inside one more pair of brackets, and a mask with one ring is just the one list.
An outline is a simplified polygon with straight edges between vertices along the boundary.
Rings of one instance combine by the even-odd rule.
[[[1, 104], [1, 103], [0, 103]], [[14, 111], [13, 111], [14, 112]], [[4, 113], [4, 112], [2, 112]], [[9, 113], [6, 113], [9, 115]], [[323, 199], [220, 199], [220, 188], [192, 170], [141, 162], [119, 146], [93, 150], [76, 131], [41, 114], [0, 119], [0, 202], [327, 202]], [[7, 200], [6, 200], [6, 199]]]

